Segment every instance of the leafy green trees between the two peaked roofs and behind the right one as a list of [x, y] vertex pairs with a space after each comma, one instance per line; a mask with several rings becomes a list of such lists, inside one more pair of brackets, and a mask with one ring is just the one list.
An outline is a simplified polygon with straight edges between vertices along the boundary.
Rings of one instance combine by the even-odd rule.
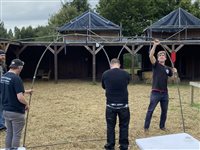
[[200, 0], [100, 0], [97, 12], [120, 25], [123, 35], [142, 34], [152, 22], [182, 7], [196, 17], [200, 17]]

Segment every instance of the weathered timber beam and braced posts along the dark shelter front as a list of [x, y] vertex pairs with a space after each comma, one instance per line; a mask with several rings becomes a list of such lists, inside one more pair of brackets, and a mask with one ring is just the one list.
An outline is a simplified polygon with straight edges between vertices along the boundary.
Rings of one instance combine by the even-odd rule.
[[[185, 45], [195, 45], [200, 49], [200, 40], [180, 40], [180, 41], [160, 41], [160, 45], [168, 50], [169, 53], [178, 52]], [[123, 47], [123, 51], [130, 53], [132, 55], [132, 79], [134, 76], [134, 55], [138, 53], [144, 46], [152, 46], [152, 42], [143, 40], [131, 40], [131, 41], [118, 41], [118, 42], [79, 42], [79, 43], [64, 43], [64, 42], [10, 42], [10, 41], [0, 41], [0, 46], [6, 52], [9, 47], [13, 47], [13, 57], [19, 58], [20, 54], [25, 51], [28, 47], [44, 47], [48, 49], [54, 56], [54, 80], [58, 81], [58, 54], [66, 48], [66, 46], [81, 46], [84, 47], [92, 55], [92, 81], [96, 82], [96, 55], [100, 51], [104, 51], [106, 46], [120, 46]], [[104, 51], [105, 52], [105, 51]], [[121, 53], [119, 52], [119, 55]], [[9, 57], [7, 55], [7, 57]], [[34, 57], [34, 56], [33, 56]], [[107, 54], [105, 53], [105, 57]], [[107, 57], [108, 58], [108, 57]], [[33, 59], [33, 58], [31, 58]]]

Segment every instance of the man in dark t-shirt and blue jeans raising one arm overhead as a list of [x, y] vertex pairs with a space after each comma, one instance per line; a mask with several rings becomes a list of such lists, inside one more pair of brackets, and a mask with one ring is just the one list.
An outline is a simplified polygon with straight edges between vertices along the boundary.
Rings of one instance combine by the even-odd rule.
[[144, 130], [149, 129], [152, 114], [157, 104], [160, 102], [161, 107], [161, 116], [160, 116], [160, 129], [165, 130], [165, 122], [167, 119], [167, 110], [168, 110], [168, 89], [167, 89], [167, 80], [168, 76], [172, 76], [173, 72], [177, 72], [176, 68], [169, 68], [165, 66], [165, 61], [167, 59], [165, 51], [159, 51], [157, 54], [157, 60], [154, 57], [156, 46], [159, 45], [158, 40], [154, 41], [153, 47], [149, 53], [149, 58], [153, 66], [153, 83], [152, 91], [150, 96], [150, 104], [147, 110]]

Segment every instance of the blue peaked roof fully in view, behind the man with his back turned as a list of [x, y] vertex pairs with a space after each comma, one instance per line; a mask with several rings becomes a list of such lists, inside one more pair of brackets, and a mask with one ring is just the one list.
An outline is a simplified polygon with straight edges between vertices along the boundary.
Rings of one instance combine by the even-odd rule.
[[104, 17], [92, 12], [91, 10], [84, 12], [80, 16], [74, 18], [69, 23], [64, 24], [57, 30], [65, 31], [84, 31], [84, 30], [120, 30], [120, 27]]

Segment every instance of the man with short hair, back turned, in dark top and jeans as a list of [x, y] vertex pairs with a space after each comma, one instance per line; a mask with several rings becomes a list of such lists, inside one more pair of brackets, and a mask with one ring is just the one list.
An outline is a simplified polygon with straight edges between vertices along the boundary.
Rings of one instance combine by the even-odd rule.
[[114, 150], [115, 126], [118, 116], [120, 150], [127, 150], [130, 121], [127, 86], [130, 76], [126, 71], [120, 69], [120, 62], [116, 58], [111, 60], [110, 68], [102, 75], [102, 87], [106, 92], [107, 123], [107, 144], [104, 147], [106, 150]]

